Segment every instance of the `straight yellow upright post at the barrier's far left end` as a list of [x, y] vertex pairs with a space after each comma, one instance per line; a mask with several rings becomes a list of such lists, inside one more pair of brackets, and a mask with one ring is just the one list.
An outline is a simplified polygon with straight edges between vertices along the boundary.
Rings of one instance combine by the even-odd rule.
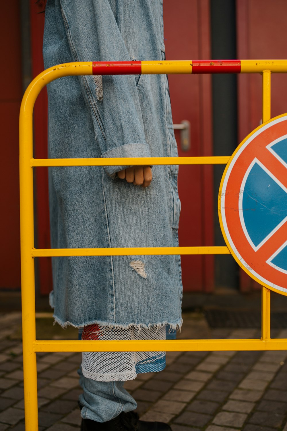
[[34, 101], [23, 99], [20, 109], [20, 228], [21, 228], [21, 289], [22, 334], [25, 399], [25, 430], [38, 429], [37, 368], [35, 322], [35, 274], [31, 250], [34, 247], [32, 115]]

